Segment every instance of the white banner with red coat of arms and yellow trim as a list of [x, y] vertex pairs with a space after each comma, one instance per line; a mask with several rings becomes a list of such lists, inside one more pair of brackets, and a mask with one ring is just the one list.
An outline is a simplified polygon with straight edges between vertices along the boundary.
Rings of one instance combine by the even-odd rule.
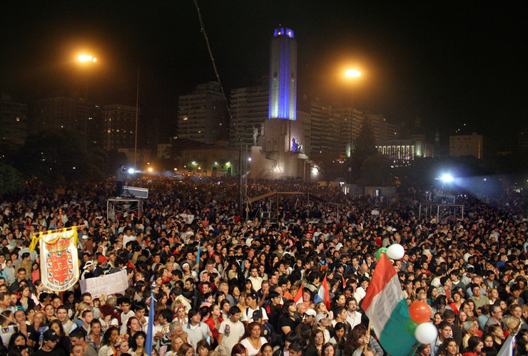
[[30, 249], [40, 240], [41, 280], [49, 290], [63, 292], [78, 281], [77, 229], [73, 226], [33, 237]]

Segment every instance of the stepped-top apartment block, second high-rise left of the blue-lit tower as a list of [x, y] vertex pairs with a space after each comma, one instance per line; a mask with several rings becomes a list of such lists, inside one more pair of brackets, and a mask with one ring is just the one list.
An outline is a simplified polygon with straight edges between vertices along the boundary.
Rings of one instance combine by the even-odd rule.
[[228, 115], [220, 85], [209, 82], [178, 101], [177, 137], [213, 145], [228, 140]]

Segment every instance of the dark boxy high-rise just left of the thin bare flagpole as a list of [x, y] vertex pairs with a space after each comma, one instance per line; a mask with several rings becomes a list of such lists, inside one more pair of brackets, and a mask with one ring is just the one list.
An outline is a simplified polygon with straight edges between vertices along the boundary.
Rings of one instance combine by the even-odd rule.
[[104, 105], [103, 146], [107, 151], [132, 148], [136, 143], [136, 107], [120, 104]]

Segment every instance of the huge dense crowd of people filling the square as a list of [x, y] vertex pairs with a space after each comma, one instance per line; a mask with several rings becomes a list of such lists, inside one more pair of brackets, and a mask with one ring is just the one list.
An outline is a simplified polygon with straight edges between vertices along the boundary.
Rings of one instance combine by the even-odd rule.
[[[135, 185], [149, 189], [141, 216], [108, 219], [111, 182], [64, 194], [34, 183], [1, 202], [0, 355], [143, 356], [153, 320], [152, 355], [383, 356], [361, 305], [376, 253], [390, 244], [405, 248], [393, 263], [407, 302], [428, 303], [439, 330], [416, 354], [494, 356], [511, 333], [516, 355], [528, 354], [521, 194], [460, 197], [463, 217], [418, 219], [414, 190], [347, 197], [332, 185], [255, 181], [250, 197], [311, 198], [280, 195], [242, 210], [229, 179]], [[263, 211], [270, 219], [260, 219]], [[126, 271], [126, 290], [44, 288], [31, 237], [71, 226], [79, 226], [81, 280]], [[317, 299], [325, 278], [330, 303]]]

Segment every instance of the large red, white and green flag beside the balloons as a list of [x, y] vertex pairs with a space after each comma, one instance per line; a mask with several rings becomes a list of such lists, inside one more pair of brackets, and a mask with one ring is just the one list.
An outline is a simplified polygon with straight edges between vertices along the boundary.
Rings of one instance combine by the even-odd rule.
[[385, 253], [372, 273], [372, 281], [362, 301], [362, 309], [372, 323], [380, 344], [391, 356], [407, 356], [415, 345], [415, 335], [407, 332], [409, 305], [400, 280]]

